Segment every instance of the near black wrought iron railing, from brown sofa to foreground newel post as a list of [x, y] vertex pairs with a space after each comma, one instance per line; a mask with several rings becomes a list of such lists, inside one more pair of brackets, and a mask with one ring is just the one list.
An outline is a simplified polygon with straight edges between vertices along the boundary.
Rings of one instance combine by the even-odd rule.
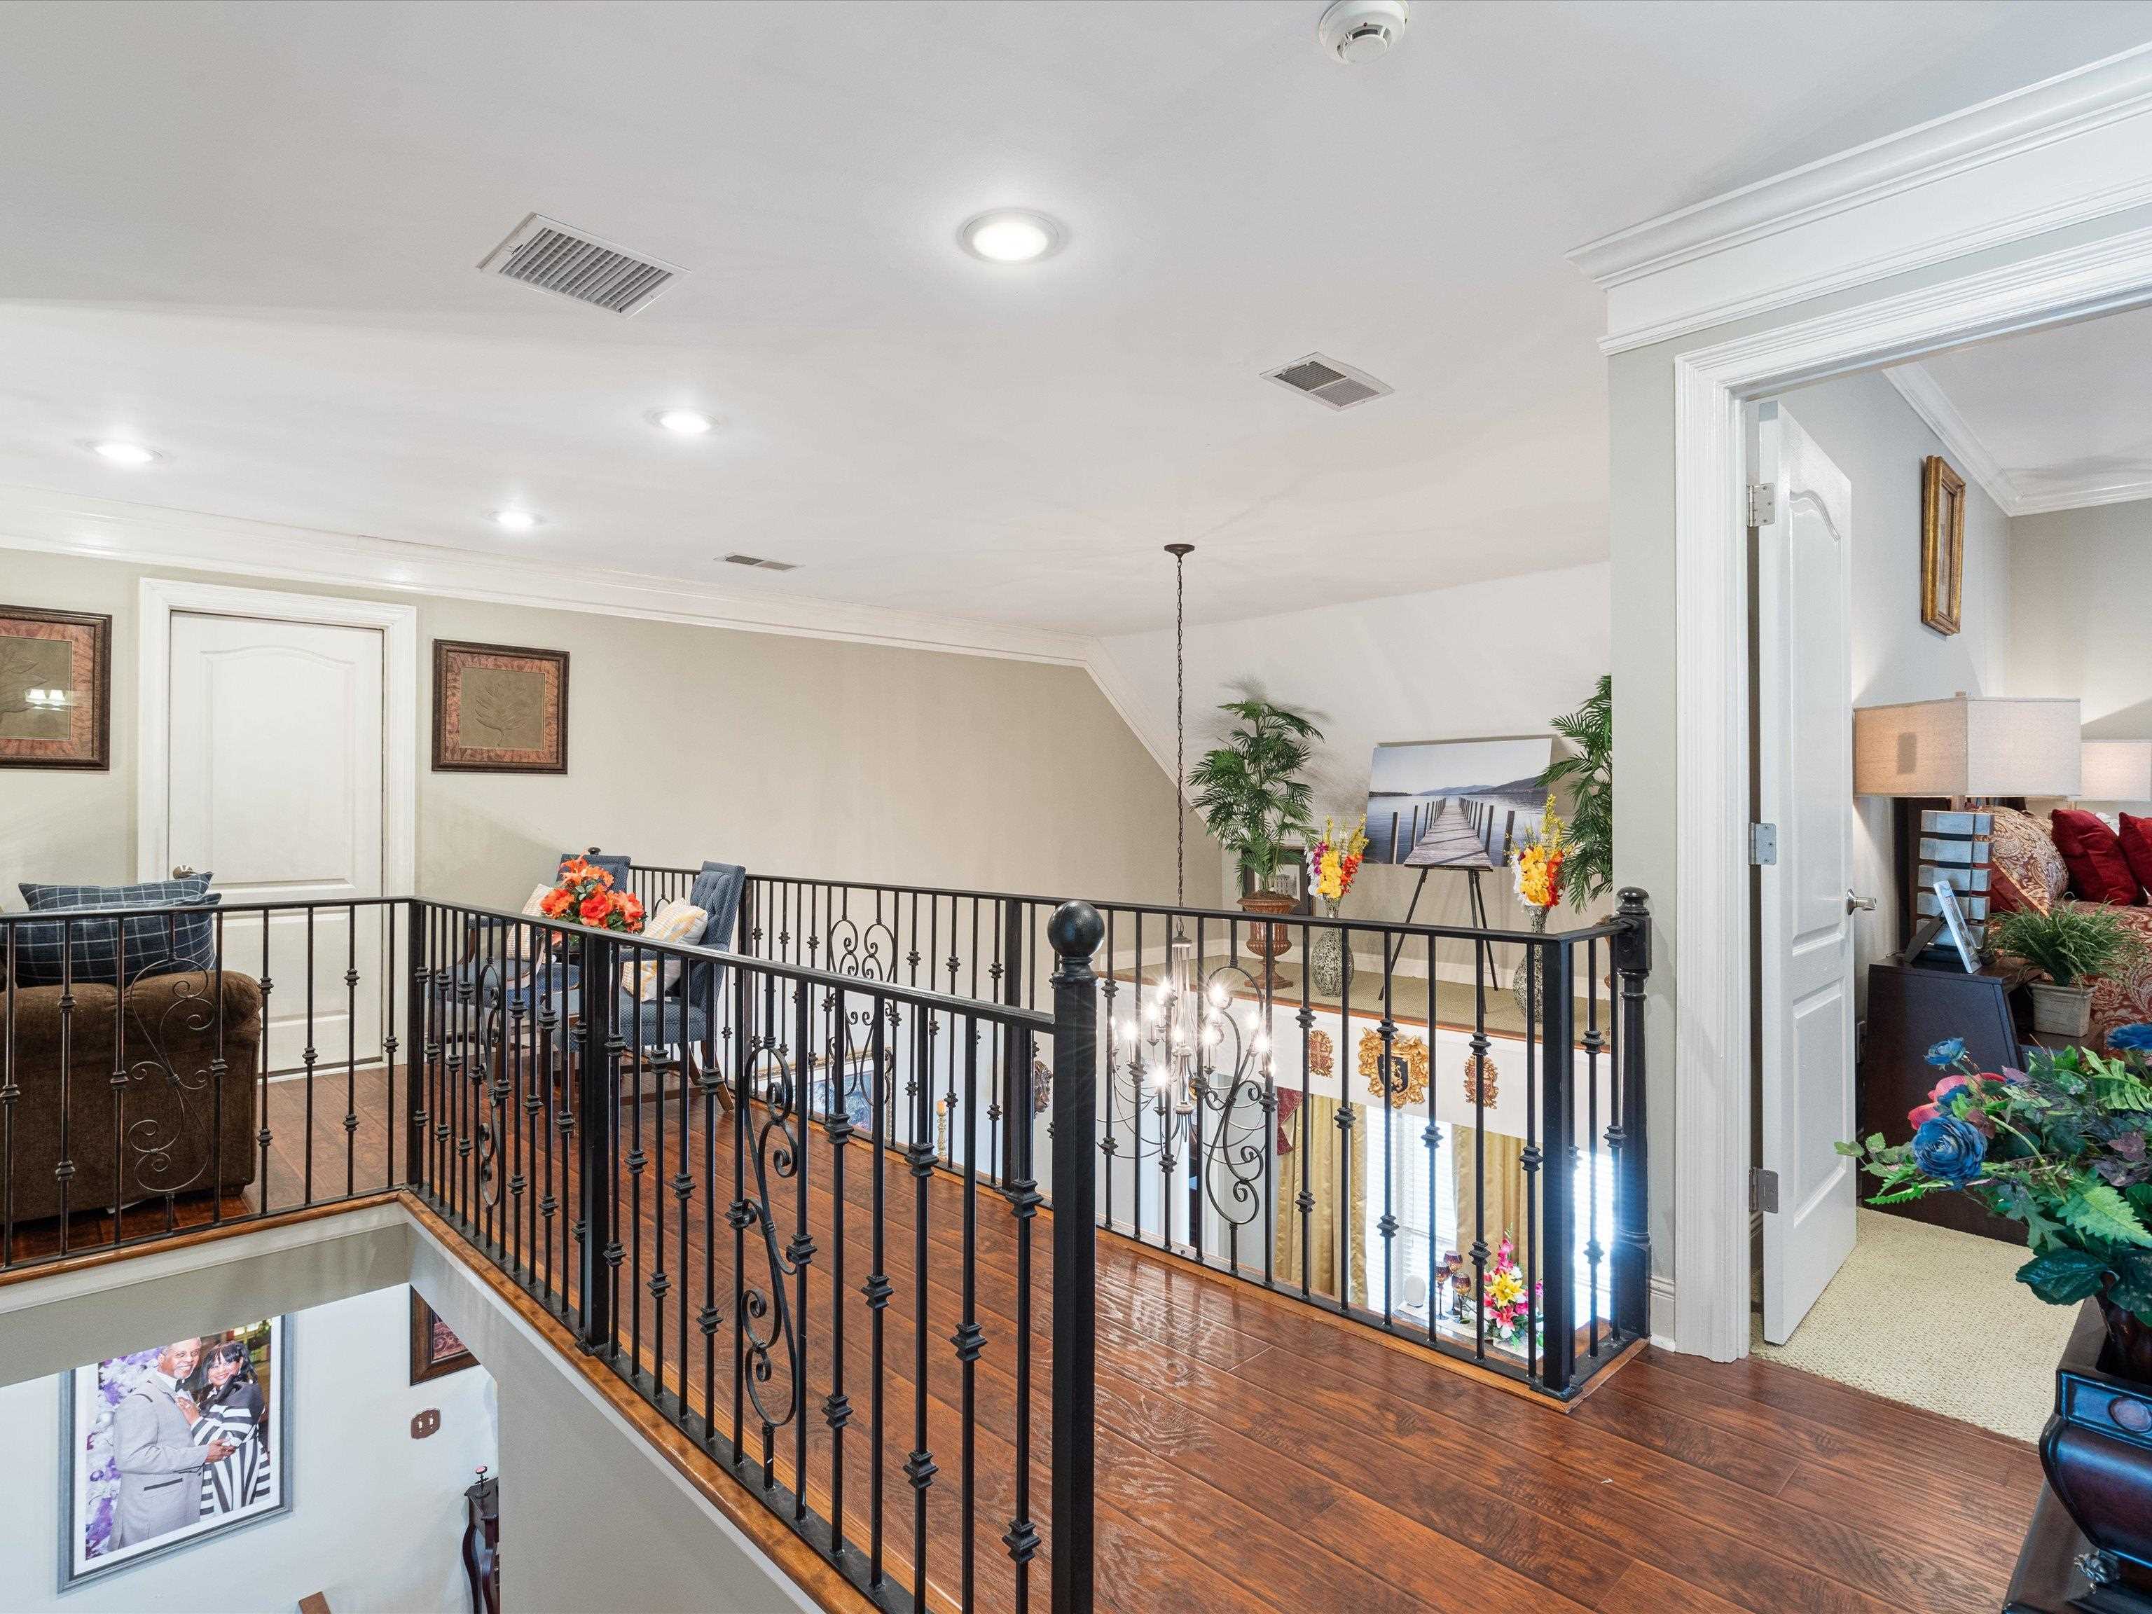
[[[0, 915], [0, 1272], [411, 1192], [880, 1608], [1080, 1614], [1100, 930], [1048, 1014], [424, 900]], [[1050, 1235], [981, 1141], [1044, 1070]]]

